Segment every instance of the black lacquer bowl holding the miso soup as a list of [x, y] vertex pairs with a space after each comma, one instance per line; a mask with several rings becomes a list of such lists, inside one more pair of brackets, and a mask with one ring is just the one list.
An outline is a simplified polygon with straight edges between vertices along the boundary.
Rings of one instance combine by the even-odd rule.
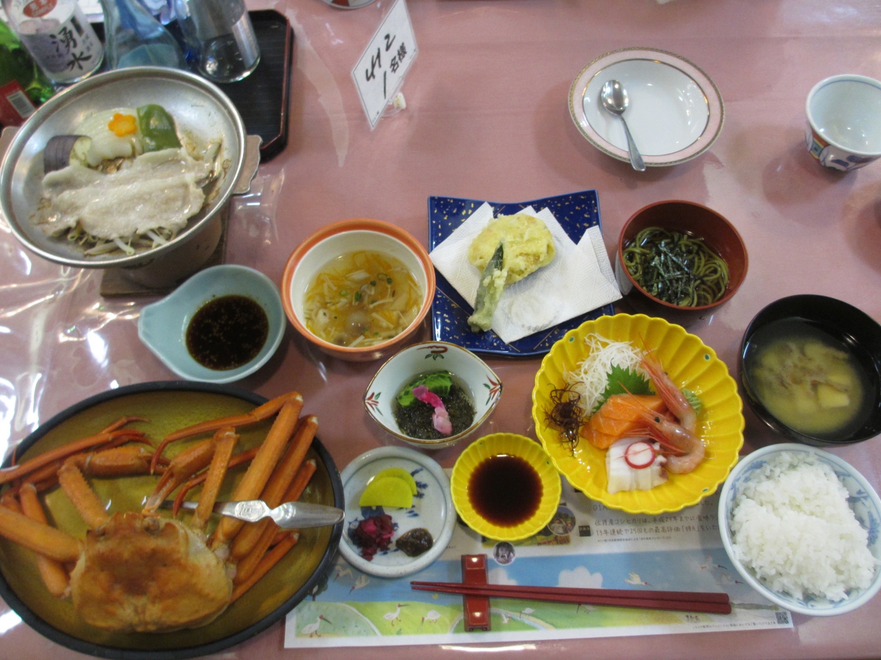
[[[777, 321], [800, 321], [813, 326], [840, 341], [853, 354], [866, 376], [868, 399], [861, 412], [860, 422], [843, 429], [838, 435], [809, 435], [777, 419], [759, 400], [756, 388], [750, 382], [746, 363], [755, 349], [756, 334]], [[752, 342], [752, 343], [751, 343]], [[825, 296], [789, 296], [768, 304], [747, 326], [740, 343], [737, 371], [745, 399], [762, 422], [790, 441], [814, 447], [834, 447], [854, 444], [881, 433], [881, 326], [865, 312], [851, 304]]]

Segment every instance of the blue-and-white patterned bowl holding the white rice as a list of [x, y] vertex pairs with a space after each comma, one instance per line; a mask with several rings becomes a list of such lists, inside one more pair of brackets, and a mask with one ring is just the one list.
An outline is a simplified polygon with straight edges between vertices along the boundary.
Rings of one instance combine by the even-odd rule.
[[865, 605], [881, 589], [881, 565], [875, 568], [875, 577], [868, 589], [855, 589], [848, 593], [848, 597], [830, 603], [825, 598], [813, 598], [806, 595], [805, 598], [794, 598], [788, 593], [770, 590], [765, 583], [759, 581], [750, 568], [737, 560], [734, 554], [731, 540], [731, 511], [738, 492], [744, 487], [744, 483], [750, 480], [752, 473], [763, 466], [769, 458], [782, 451], [800, 454], [812, 454], [826, 465], [832, 467], [836, 476], [844, 487], [848, 489], [850, 496], [848, 504], [854, 510], [856, 519], [869, 531], [869, 549], [878, 561], [881, 561], [881, 542], [878, 536], [881, 533], [881, 500], [871, 487], [870, 483], [858, 473], [853, 466], [838, 458], [828, 451], [809, 447], [804, 444], [785, 443], [772, 444], [753, 451], [744, 456], [740, 463], [729, 474], [728, 480], [722, 487], [722, 495], [719, 498], [719, 531], [722, 533], [722, 545], [729, 559], [734, 563], [737, 572], [744, 577], [750, 586], [757, 590], [763, 597], [776, 605], [786, 608], [790, 612], [807, 614], [809, 616], [833, 616], [851, 612], [861, 605]]

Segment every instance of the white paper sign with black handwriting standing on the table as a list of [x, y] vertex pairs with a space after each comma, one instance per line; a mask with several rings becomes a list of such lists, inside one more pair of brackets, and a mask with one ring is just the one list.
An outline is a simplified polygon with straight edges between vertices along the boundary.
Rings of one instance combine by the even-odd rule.
[[407, 4], [397, 0], [352, 70], [371, 130], [416, 59], [416, 53], [416, 37]]

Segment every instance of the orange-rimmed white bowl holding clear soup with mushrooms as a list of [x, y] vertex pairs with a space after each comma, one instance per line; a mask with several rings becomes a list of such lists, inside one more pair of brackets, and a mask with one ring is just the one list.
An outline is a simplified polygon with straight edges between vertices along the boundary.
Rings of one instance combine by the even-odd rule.
[[[329, 260], [359, 250], [373, 250], [400, 260], [422, 290], [422, 304], [411, 324], [388, 341], [349, 348], [325, 341], [306, 326], [304, 303], [309, 285]], [[285, 314], [297, 332], [329, 356], [349, 362], [369, 362], [387, 356], [411, 341], [426, 319], [434, 297], [434, 267], [423, 247], [411, 234], [381, 220], [353, 218], [328, 224], [315, 231], [293, 251], [281, 282]]]

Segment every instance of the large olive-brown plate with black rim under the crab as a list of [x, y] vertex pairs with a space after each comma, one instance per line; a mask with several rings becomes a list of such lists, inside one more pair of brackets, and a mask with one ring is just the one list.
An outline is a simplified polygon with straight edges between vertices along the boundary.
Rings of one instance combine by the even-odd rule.
[[[130, 385], [98, 394], [57, 414], [41, 425], [20, 445], [19, 462], [44, 451], [90, 436], [123, 414], [137, 414], [149, 422], [134, 422], [155, 444], [174, 429], [195, 422], [241, 414], [265, 399], [230, 385], [158, 382]], [[240, 430], [239, 450], [263, 440], [271, 420]], [[172, 444], [167, 456], [186, 449], [200, 438]], [[343, 487], [337, 466], [315, 439], [307, 458], [318, 460], [318, 470], [303, 495], [305, 502], [344, 508]], [[231, 471], [220, 499], [229, 496], [243, 470]], [[91, 480], [110, 512], [140, 510], [144, 497], [152, 492], [156, 477], [126, 477]], [[57, 527], [78, 538], [85, 536], [85, 524], [59, 489], [45, 498], [48, 516]], [[125, 660], [176, 660], [203, 656], [226, 649], [260, 633], [282, 619], [294, 605], [326, 579], [337, 551], [342, 524], [303, 530], [300, 542], [260, 582], [208, 626], [161, 634], [121, 634], [91, 627], [78, 619], [70, 599], [49, 594], [37, 571], [32, 552], [0, 539], [0, 596], [28, 625], [69, 649], [93, 656]]]

